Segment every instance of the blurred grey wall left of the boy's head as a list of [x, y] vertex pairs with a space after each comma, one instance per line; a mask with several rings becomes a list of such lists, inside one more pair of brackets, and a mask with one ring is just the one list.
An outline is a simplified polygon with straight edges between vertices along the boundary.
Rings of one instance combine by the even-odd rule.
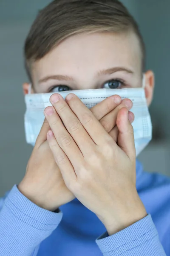
[[32, 147], [24, 134], [23, 44], [49, 1], [0, 0], [0, 196], [23, 178]]

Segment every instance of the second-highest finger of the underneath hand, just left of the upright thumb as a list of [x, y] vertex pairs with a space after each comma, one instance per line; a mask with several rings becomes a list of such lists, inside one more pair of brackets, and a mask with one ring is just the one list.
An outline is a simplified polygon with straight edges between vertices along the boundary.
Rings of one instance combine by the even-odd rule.
[[110, 113], [108, 113], [102, 119], [100, 119], [99, 122], [105, 128], [105, 131], [109, 133], [116, 125], [117, 114], [121, 108], [126, 107], [128, 110], [130, 110], [132, 106], [133, 103], [130, 99], [123, 99], [121, 104], [119, 104]]

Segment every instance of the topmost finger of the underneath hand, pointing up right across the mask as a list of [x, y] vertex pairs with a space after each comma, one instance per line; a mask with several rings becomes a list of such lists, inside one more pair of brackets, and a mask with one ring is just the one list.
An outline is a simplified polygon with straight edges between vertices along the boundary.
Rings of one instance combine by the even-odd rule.
[[122, 102], [122, 99], [119, 95], [112, 95], [99, 102], [90, 110], [99, 121], [103, 116], [107, 115], [109, 112], [115, 109], [117, 105], [120, 104], [120, 102]]

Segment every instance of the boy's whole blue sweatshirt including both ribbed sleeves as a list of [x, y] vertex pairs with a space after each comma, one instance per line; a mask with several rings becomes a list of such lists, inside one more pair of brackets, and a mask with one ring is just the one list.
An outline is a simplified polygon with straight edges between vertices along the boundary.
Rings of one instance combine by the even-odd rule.
[[0, 256], [170, 256], [170, 179], [136, 161], [136, 187], [148, 215], [109, 236], [77, 198], [50, 212], [15, 185], [0, 199]]

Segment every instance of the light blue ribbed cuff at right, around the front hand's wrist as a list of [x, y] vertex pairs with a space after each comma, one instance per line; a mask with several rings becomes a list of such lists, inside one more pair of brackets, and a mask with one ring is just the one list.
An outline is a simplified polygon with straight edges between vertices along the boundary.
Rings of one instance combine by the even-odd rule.
[[[156, 227], [151, 215], [148, 214], [146, 217], [112, 236], [108, 236], [108, 233], [105, 232], [96, 239], [96, 244], [103, 254], [126, 255], [124, 254], [126, 251], [140, 247], [140, 245], [154, 238], [159, 242]], [[112, 252], [112, 254], [108, 254], [109, 252]]]

